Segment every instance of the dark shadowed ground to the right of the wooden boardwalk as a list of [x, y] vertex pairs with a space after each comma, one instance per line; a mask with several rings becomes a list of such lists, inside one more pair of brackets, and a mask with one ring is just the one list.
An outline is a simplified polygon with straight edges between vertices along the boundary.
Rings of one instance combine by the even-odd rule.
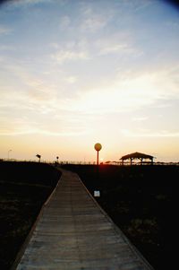
[[[99, 205], [156, 270], [177, 262], [177, 166], [65, 165], [77, 172]], [[176, 246], [175, 246], [176, 245]], [[177, 268], [177, 267], [176, 267]]]

